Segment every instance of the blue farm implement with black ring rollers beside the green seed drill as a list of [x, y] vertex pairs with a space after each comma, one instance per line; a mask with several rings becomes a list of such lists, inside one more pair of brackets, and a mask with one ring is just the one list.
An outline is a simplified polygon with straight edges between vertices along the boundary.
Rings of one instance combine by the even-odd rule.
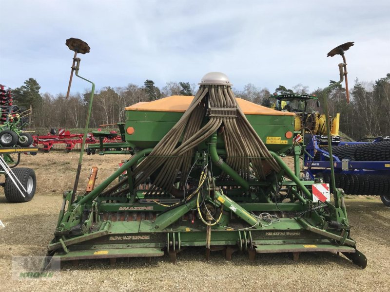
[[[331, 180], [326, 136], [313, 136], [306, 146], [305, 178]], [[326, 145], [325, 145], [326, 144]], [[390, 207], [390, 137], [372, 142], [341, 142], [331, 138], [334, 179], [337, 188], [350, 195], [377, 195]]]

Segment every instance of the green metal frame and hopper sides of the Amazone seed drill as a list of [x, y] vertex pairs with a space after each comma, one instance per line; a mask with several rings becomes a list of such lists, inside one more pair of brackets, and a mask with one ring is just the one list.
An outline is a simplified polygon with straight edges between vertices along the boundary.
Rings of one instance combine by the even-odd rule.
[[[175, 199], [166, 190], [148, 193], [136, 186], [134, 169], [181, 115], [127, 111], [126, 127], [135, 133], [126, 133], [125, 139], [133, 155], [91, 192], [76, 198], [75, 192], [65, 192], [48, 256], [115, 259], [167, 252], [175, 260], [185, 247], [204, 246], [207, 256], [212, 249], [226, 249], [227, 258], [234, 250], [247, 252], [250, 258], [270, 252], [342, 252], [358, 266], [367, 265], [350, 236], [342, 191], [335, 191], [334, 204], [313, 202], [314, 182], [300, 179], [299, 149], [293, 152], [294, 171], [281, 159], [293, 146], [292, 139], [266, 144], [281, 170], [263, 181], [244, 180], [226, 164], [223, 138], [214, 133], [195, 149], [194, 165], [212, 170], [195, 195]], [[283, 139], [293, 131], [293, 116], [247, 117], [263, 141], [269, 136]], [[229, 180], [222, 180], [221, 173]], [[200, 180], [199, 170], [192, 177]], [[278, 221], [267, 221], [264, 212], [278, 215]]]

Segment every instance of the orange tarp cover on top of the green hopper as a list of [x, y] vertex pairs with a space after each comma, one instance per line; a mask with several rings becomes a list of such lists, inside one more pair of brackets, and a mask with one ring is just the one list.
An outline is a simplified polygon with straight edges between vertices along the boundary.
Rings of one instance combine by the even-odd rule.
[[[193, 99], [194, 96], [173, 95], [150, 102], [138, 102], [130, 107], [126, 107], [125, 110], [184, 112], [187, 110]], [[236, 100], [245, 114], [295, 115], [293, 112], [269, 109], [242, 98], [237, 97]]]

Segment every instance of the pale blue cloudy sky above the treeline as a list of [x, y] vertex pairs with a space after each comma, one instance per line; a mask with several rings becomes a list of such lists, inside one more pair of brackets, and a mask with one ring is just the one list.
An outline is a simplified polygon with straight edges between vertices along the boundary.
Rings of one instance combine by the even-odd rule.
[[[337, 79], [347, 41], [350, 83], [390, 73], [390, 1], [38, 1], [0, 0], [0, 83], [29, 77], [41, 92], [65, 92], [73, 54], [69, 37], [91, 47], [80, 75], [104, 86], [197, 83], [226, 73], [236, 89], [311, 90]], [[74, 79], [75, 80], [75, 79]], [[88, 84], [75, 80], [72, 91]]]

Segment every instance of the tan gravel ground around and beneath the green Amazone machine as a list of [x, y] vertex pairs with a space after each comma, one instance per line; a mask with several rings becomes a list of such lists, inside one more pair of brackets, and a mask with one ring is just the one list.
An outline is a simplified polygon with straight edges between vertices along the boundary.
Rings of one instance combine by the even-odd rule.
[[[204, 260], [203, 249], [185, 250], [176, 264], [168, 256], [61, 264], [58, 281], [11, 279], [11, 256], [43, 256], [61, 205], [61, 194], [72, 188], [77, 153], [39, 153], [22, 157], [20, 166], [36, 170], [38, 189], [28, 203], [7, 203], [0, 193], [0, 291], [390, 291], [390, 208], [377, 197], [349, 196], [346, 204], [352, 237], [367, 256], [361, 270], [343, 256], [302, 253], [298, 262], [290, 254], [256, 255], [250, 262], [235, 253], [231, 261], [215, 252]], [[79, 188], [85, 188], [89, 169], [100, 168], [102, 181], [126, 156], [85, 156]], [[104, 166], [104, 169], [103, 169]], [[54, 171], [54, 169], [56, 169]], [[2, 189], [1, 189], [2, 192]]]

